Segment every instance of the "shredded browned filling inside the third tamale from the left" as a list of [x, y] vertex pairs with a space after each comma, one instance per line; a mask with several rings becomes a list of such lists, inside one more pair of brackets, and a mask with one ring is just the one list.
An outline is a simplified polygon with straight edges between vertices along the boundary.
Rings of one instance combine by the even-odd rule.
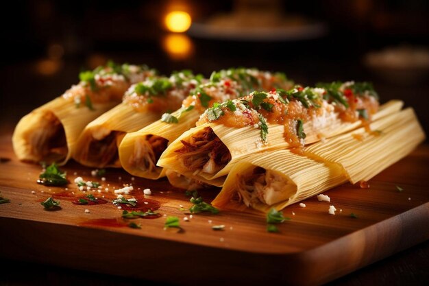
[[169, 141], [167, 139], [149, 134], [145, 138], [136, 141], [134, 156], [130, 157], [130, 163], [139, 169], [149, 172], [154, 171], [156, 163], [162, 152], [167, 149], [168, 144]]

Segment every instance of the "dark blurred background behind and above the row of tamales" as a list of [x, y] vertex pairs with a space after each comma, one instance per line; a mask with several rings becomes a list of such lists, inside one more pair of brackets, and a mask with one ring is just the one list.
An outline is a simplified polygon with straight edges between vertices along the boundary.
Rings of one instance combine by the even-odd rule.
[[[161, 73], [228, 67], [295, 82], [367, 80], [413, 106], [428, 132], [429, 9], [424, 0], [10, 1], [1, 17], [0, 128], [61, 95], [108, 59]], [[191, 29], [171, 32], [169, 12]], [[170, 29], [186, 18], [172, 22]]]

